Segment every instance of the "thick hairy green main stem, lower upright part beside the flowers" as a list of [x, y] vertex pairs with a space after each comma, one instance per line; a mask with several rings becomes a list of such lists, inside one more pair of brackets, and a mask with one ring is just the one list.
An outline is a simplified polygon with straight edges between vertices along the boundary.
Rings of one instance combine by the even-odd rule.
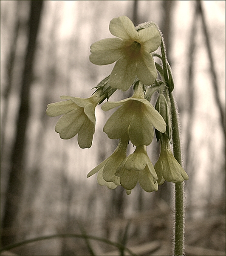
[[[173, 155], [178, 163], [182, 165], [177, 108], [172, 93], [169, 94], [169, 98], [172, 111]], [[174, 255], [184, 255], [184, 182], [175, 183]]]

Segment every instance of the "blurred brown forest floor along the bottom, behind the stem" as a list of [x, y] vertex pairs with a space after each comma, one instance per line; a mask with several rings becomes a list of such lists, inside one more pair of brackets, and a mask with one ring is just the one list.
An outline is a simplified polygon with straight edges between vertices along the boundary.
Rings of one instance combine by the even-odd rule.
[[[225, 201], [209, 204], [202, 209], [203, 215], [191, 217], [195, 209], [186, 209], [185, 224], [185, 255], [187, 256], [225, 256], [226, 250], [226, 216]], [[126, 247], [136, 255], [142, 256], [164, 256], [172, 255], [172, 212], [167, 204], [161, 203], [155, 209], [147, 212], [138, 212], [129, 219], [117, 218], [102, 223], [102, 229], [105, 229], [105, 238], [111, 241], [120, 241], [128, 223], [128, 239]], [[95, 235], [95, 234], [93, 234]], [[98, 235], [96, 235], [98, 236]], [[102, 236], [103, 237], [103, 236]], [[59, 255], [93, 255], [87, 247], [85, 239], [74, 239], [67, 242], [67, 250], [61, 250]], [[91, 240], [89, 240], [91, 241]], [[91, 241], [90, 245], [95, 252], [94, 255], [114, 256], [131, 255], [116, 250], [116, 247]], [[21, 248], [22, 249], [22, 248]], [[3, 252], [1, 255], [44, 255], [29, 254], [25, 250], [12, 250]], [[76, 252], [76, 253], [75, 253]], [[56, 255], [56, 254], [46, 254]], [[58, 254], [57, 254], [58, 255]]]

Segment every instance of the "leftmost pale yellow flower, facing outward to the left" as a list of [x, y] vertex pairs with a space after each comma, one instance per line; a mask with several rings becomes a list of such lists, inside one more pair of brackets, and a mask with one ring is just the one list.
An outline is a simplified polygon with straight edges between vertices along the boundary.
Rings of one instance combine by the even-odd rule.
[[48, 104], [45, 113], [48, 116], [60, 116], [55, 131], [68, 140], [78, 134], [80, 148], [90, 148], [95, 131], [95, 108], [100, 100], [100, 92], [96, 91], [90, 98], [81, 99], [61, 96], [66, 101]]

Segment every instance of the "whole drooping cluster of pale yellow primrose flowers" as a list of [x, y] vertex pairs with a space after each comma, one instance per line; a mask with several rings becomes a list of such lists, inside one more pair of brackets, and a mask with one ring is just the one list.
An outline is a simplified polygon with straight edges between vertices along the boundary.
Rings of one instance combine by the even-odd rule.
[[[165, 180], [174, 183], [188, 179], [188, 175], [174, 158], [171, 142], [171, 111], [165, 81], [158, 83], [152, 52], [161, 44], [158, 26], [144, 23], [135, 27], [126, 16], [110, 21], [109, 30], [116, 38], [102, 39], [90, 47], [90, 61], [96, 65], [116, 62], [110, 75], [96, 87], [87, 99], [61, 96], [66, 101], [48, 105], [48, 116], [59, 116], [55, 131], [62, 139], [78, 134], [81, 148], [90, 148], [95, 131], [95, 108], [108, 99], [117, 89], [126, 91], [133, 85], [133, 96], [116, 102], [105, 102], [103, 111], [119, 107], [107, 120], [103, 131], [110, 139], [119, 139], [113, 154], [91, 170], [87, 177], [96, 173], [97, 182], [115, 189], [122, 186], [127, 194], [137, 183], [146, 192], [158, 190]], [[160, 71], [159, 71], [160, 70]], [[161, 67], [158, 67], [161, 72]], [[153, 83], [155, 82], [155, 87]], [[150, 87], [151, 86], [151, 87]], [[155, 108], [150, 103], [150, 88], [158, 91]], [[157, 89], [156, 89], [157, 88]], [[146, 97], [145, 97], [146, 96]], [[149, 99], [149, 100], [147, 100]], [[154, 131], [161, 143], [161, 153], [155, 166], [147, 155], [147, 146], [153, 140]], [[129, 142], [136, 146], [127, 156]]]

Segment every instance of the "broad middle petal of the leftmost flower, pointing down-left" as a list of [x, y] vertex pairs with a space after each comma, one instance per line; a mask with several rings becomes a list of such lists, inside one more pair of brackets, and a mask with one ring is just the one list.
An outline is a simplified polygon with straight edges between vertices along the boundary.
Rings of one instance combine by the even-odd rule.
[[71, 139], [79, 132], [86, 118], [82, 108], [79, 111], [74, 109], [64, 116], [61, 116], [55, 126], [55, 131], [59, 133], [59, 136], [63, 140]]

